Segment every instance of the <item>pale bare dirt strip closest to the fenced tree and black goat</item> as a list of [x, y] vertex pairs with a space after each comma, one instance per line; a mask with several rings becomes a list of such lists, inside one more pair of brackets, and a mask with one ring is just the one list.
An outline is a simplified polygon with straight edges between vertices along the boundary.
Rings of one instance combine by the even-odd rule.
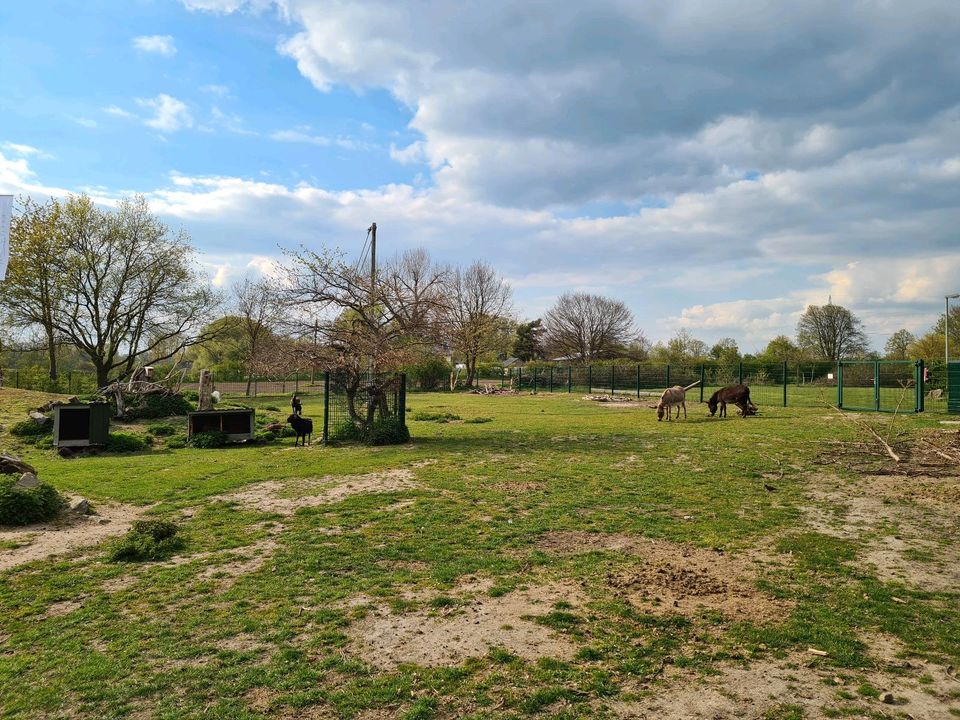
[[292, 515], [298, 508], [329, 505], [351, 495], [398, 492], [416, 487], [413, 473], [399, 469], [313, 480], [268, 480], [212, 499], [240, 503], [263, 512]]

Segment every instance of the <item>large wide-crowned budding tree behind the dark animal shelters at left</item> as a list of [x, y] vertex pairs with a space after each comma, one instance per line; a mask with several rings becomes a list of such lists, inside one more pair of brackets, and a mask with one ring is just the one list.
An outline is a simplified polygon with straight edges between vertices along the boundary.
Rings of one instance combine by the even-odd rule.
[[62, 297], [53, 325], [90, 359], [99, 385], [207, 339], [202, 322], [219, 298], [193, 267], [187, 235], [172, 235], [146, 200], [106, 212], [71, 197], [58, 227], [65, 252], [54, 261]]

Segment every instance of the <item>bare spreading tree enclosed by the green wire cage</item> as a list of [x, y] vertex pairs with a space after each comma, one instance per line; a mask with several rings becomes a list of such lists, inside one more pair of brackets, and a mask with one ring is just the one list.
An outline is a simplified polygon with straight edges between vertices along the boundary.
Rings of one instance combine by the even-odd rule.
[[[425, 252], [412, 251], [383, 266], [371, 282], [340, 252], [302, 249], [288, 255], [286, 294], [312, 313], [302, 334], [316, 331], [323, 338], [314, 352], [324, 357], [313, 361], [344, 372], [350, 419], [365, 429], [378, 410], [386, 412], [386, 388], [377, 373], [403, 366], [417, 348], [436, 341], [446, 271]], [[311, 347], [301, 344], [305, 353]], [[356, 405], [361, 388], [370, 398], [364, 411]]]

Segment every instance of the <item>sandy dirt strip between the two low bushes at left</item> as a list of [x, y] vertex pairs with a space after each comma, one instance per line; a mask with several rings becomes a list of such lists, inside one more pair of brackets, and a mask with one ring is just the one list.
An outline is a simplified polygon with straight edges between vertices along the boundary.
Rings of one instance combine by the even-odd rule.
[[122, 535], [144, 510], [146, 508], [134, 505], [97, 503], [96, 515], [64, 513], [54, 522], [0, 529], [0, 542], [20, 543], [16, 548], [0, 550], [0, 570], [63, 555]]

